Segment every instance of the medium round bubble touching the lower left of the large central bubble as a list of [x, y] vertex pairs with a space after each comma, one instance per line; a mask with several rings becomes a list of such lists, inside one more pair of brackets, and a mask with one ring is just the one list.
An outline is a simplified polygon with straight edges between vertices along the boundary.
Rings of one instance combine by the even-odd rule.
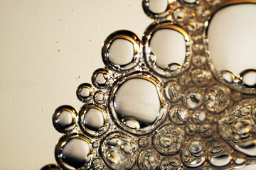
[[79, 125], [82, 132], [99, 136], [106, 132], [108, 122], [103, 108], [97, 106], [85, 106], [79, 113]]

